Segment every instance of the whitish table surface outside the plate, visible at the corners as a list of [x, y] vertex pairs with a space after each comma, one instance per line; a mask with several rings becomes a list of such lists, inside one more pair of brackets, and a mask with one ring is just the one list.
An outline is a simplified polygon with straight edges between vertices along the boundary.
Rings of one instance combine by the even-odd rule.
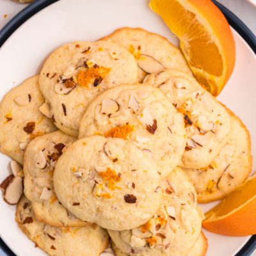
[[[40, 0], [39, 0], [40, 1]], [[72, 0], [70, 0], [72, 1]], [[256, 35], [256, 7], [246, 0], [217, 0], [237, 15]], [[251, 0], [256, 2], [255, 0]], [[0, 29], [28, 4], [15, 3], [10, 0], [0, 0]], [[256, 251], [251, 256], [256, 256]]]

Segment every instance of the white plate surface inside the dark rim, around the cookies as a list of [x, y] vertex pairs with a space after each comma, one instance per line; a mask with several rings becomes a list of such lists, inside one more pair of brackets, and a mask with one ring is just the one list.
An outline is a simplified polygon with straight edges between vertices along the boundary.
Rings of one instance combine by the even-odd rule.
[[[14, 86], [38, 74], [45, 58], [57, 47], [72, 41], [95, 41], [125, 26], [159, 33], [179, 45], [163, 20], [150, 10], [148, 0], [61, 0], [25, 22], [1, 47], [0, 99]], [[233, 33], [236, 67], [218, 99], [248, 127], [256, 157], [256, 56], [243, 38], [236, 31]], [[0, 163], [1, 181], [8, 175], [10, 158], [0, 154]], [[207, 211], [212, 205], [202, 207]], [[46, 255], [19, 230], [15, 206], [0, 200], [0, 209], [0, 236], [13, 252], [18, 256]], [[220, 236], [206, 230], [204, 233], [209, 242], [207, 256], [235, 255], [250, 238]]]

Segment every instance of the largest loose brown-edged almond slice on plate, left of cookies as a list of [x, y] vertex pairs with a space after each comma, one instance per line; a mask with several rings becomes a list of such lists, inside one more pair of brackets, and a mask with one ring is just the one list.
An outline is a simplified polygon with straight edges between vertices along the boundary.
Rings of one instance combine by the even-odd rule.
[[23, 194], [22, 178], [14, 177], [4, 191], [4, 201], [10, 205], [17, 204]]

